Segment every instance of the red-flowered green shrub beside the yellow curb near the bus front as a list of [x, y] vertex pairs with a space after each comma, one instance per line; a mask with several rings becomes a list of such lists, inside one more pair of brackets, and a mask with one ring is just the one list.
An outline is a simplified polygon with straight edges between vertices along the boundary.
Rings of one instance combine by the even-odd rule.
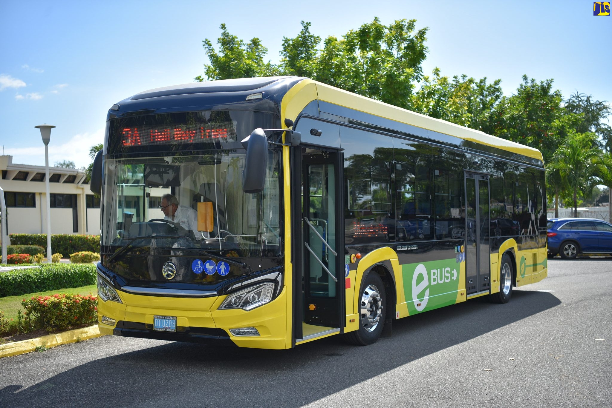
[[98, 299], [92, 295], [38, 296], [24, 299], [21, 305], [32, 326], [47, 332], [94, 324], [98, 320]]

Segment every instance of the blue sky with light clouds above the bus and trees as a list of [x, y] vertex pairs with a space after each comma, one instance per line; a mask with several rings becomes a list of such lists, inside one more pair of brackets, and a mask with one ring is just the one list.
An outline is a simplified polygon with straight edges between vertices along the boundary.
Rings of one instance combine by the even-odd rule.
[[554, 78], [564, 97], [578, 91], [612, 100], [612, 16], [574, 1], [0, 1], [0, 149], [13, 163], [44, 165], [35, 125], [56, 125], [50, 163], [89, 164], [113, 103], [203, 74], [202, 40], [219, 25], [259, 37], [279, 59], [283, 36], [300, 20], [323, 39], [378, 16], [428, 27], [426, 73], [501, 78], [507, 95], [521, 75]]

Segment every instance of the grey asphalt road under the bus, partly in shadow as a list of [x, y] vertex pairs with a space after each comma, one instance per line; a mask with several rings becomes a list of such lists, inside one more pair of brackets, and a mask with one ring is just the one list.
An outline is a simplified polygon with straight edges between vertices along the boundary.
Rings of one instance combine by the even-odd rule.
[[612, 258], [548, 267], [507, 305], [475, 299], [401, 319], [367, 347], [108, 336], [2, 358], [0, 406], [609, 407]]

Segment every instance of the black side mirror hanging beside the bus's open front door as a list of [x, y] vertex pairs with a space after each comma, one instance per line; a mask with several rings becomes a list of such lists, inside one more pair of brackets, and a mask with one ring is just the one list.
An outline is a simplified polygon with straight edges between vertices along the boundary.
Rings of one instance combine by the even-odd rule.
[[251, 194], [261, 193], [266, 184], [268, 144], [266, 133], [262, 128], [256, 128], [241, 143], [247, 149], [242, 174], [242, 191]]

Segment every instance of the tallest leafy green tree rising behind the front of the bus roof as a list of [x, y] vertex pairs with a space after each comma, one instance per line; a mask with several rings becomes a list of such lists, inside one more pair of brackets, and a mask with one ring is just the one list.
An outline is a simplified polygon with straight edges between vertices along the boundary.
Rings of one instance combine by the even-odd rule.
[[260, 40], [249, 43], [231, 35], [221, 24], [219, 51], [212, 42], [203, 41], [210, 61], [204, 76], [196, 81], [224, 80], [267, 75], [308, 76], [332, 86], [370, 98], [409, 108], [412, 93], [422, 79], [427, 28], [416, 29], [416, 20], [397, 20], [389, 26], [378, 18], [351, 30], [342, 39], [327, 37], [318, 50], [320, 37], [302, 21], [295, 38], [283, 38], [279, 65], [264, 62], [267, 52]]

